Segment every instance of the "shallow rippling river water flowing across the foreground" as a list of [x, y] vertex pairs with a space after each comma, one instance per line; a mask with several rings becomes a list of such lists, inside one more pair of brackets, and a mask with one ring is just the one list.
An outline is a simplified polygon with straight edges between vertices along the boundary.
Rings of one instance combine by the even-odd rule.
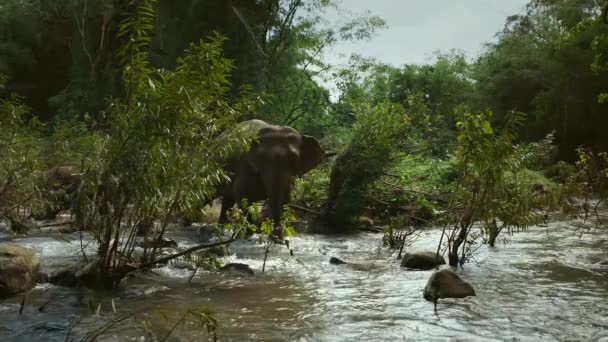
[[[427, 231], [408, 250], [434, 250], [439, 235]], [[146, 324], [162, 337], [193, 307], [215, 313], [221, 341], [608, 341], [608, 266], [596, 264], [608, 260], [608, 235], [579, 235], [556, 222], [510, 240], [479, 246], [475, 260], [458, 270], [477, 297], [441, 300], [436, 312], [422, 298], [431, 271], [400, 268], [380, 234], [303, 235], [291, 242], [293, 256], [275, 248], [264, 273], [261, 246], [233, 245], [222, 261], [249, 264], [252, 277], [200, 272], [188, 283], [191, 271], [167, 266], [115, 292], [39, 286], [21, 316], [19, 298], [0, 303], [0, 341], [64, 341], [68, 334], [79, 341], [125, 313], [135, 314], [99, 340], [146, 341]], [[81, 248], [52, 238], [17, 242], [36, 249], [46, 269]], [[194, 243], [180, 238], [180, 246]], [[331, 256], [349, 264], [329, 264]], [[186, 324], [168, 340], [204, 336]]]

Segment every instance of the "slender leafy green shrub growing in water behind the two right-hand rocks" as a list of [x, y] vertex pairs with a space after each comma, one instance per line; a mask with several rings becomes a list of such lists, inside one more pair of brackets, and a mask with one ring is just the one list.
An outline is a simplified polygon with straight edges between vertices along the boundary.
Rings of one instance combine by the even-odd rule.
[[[470, 257], [476, 236], [474, 225], [483, 227], [485, 239], [494, 246], [502, 231], [525, 229], [539, 222], [535, 209], [546, 200], [534, 193], [525, 171], [528, 153], [514, 145], [525, 116], [511, 113], [500, 132], [490, 124], [491, 113], [463, 113], [458, 127], [461, 133], [455, 149], [455, 168], [461, 178], [453, 184], [446, 226], [450, 265], [462, 265]], [[444, 230], [445, 231], [445, 230]], [[443, 238], [443, 236], [442, 236]]]

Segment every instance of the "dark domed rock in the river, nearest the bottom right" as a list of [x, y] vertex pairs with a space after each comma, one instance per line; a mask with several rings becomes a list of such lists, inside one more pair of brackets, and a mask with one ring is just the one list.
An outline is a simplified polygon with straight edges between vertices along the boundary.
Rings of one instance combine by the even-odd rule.
[[449, 269], [434, 272], [424, 288], [424, 299], [437, 302], [440, 298], [475, 296], [473, 287]]

